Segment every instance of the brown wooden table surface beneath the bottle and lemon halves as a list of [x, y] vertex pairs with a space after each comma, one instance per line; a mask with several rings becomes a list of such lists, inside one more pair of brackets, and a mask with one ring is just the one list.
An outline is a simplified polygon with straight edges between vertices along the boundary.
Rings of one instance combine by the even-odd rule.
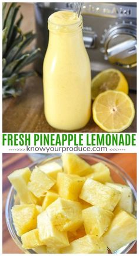
[[[35, 31], [35, 18], [33, 4], [20, 3], [24, 15], [22, 30]], [[135, 109], [136, 94], [130, 92]], [[124, 132], [136, 132], [136, 117]], [[44, 116], [44, 100], [42, 78], [28, 78], [24, 92], [20, 97], [8, 98], [3, 101], [3, 132], [61, 132], [49, 126]], [[80, 132], [104, 132], [91, 120]]]

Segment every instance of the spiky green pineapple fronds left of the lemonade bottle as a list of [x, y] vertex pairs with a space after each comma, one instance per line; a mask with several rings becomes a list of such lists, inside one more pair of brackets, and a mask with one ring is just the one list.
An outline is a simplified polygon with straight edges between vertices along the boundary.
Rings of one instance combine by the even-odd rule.
[[6, 3], [2, 4], [3, 98], [21, 95], [25, 79], [36, 75], [34, 71], [21, 70], [38, 57], [40, 49], [25, 52], [25, 48], [35, 39], [35, 34], [32, 31], [22, 32], [20, 28], [22, 14], [16, 21], [19, 8], [19, 5], [12, 3], [6, 12]]

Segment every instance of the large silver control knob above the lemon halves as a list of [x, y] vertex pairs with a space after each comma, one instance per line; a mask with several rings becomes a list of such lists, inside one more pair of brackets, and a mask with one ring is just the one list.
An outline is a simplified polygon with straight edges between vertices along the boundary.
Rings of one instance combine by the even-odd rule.
[[104, 59], [110, 63], [132, 68], [137, 65], [137, 27], [130, 23], [116, 23], [104, 30], [101, 43]]

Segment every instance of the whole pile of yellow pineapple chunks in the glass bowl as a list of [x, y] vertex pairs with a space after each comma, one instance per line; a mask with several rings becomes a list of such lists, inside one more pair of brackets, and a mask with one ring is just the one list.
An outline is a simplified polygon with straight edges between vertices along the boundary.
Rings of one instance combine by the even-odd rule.
[[106, 254], [136, 239], [132, 191], [114, 183], [102, 162], [91, 166], [64, 153], [62, 166], [51, 161], [8, 178], [20, 201], [12, 207], [12, 219], [24, 249]]

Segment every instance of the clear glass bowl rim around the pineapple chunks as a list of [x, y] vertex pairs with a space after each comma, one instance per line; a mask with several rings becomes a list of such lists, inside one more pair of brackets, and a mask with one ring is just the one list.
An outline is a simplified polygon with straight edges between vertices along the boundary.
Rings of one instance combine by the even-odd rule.
[[[136, 212], [137, 193], [136, 193], [135, 185], [134, 185], [133, 181], [125, 173], [125, 171], [122, 168], [120, 168], [118, 165], [114, 164], [114, 162], [112, 162], [109, 159], [104, 158], [100, 155], [96, 155], [96, 154], [92, 154], [92, 153], [84, 153], [84, 154], [81, 153], [79, 155], [82, 159], [84, 159], [86, 162], [88, 162], [88, 164], [91, 164], [91, 165], [97, 164], [97, 162], [100, 162], [100, 161], [103, 162], [110, 168], [111, 177], [115, 183], [125, 184], [131, 188], [131, 190], [133, 192], [133, 209], [134, 209], [133, 214], [136, 216], [137, 215], [137, 212]], [[52, 154], [51, 154], [51, 156], [52, 156]], [[62, 161], [61, 161], [61, 157], [59, 156], [59, 153], [58, 154], [54, 153], [54, 157], [49, 158], [49, 155], [47, 156], [47, 154], [46, 154], [45, 159], [43, 159], [43, 160], [41, 159], [40, 161], [34, 162], [33, 164], [31, 164], [29, 166], [29, 168], [32, 170], [35, 167], [35, 165], [39, 166], [39, 165], [44, 164], [45, 162], [51, 162], [51, 161], [58, 162], [58, 164], [62, 165]], [[15, 231], [15, 227], [14, 227], [14, 223], [12, 221], [12, 215], [11, 215], [12, 206], [14, 206], [15, 204], [19, 204], [19, 199], [16, 196], [16, 191], [14, 190], [13, 187], [11, 187], [11, 189], [9, 190], [8, 198], [6, 200], [6, 207], [5, 207], [6, 224], [8, 226], [9, 233], [11, 234], [12, 239], [15, 241], [15, 244], [18, 245], [18, 247], [22, 251], [24, 251], [25, 253], [28, 253], [28, 254], [35, 254], [37, 252], [35, 252], [34, 249], [28, 249], [28, 250], [23, 249], [21, 239], [19, 238], [18, 235], [16, 235], [16, 231]], [[130, 251], [130, 249], [134, 246], [134, 244], [135, 244], [135, 241], [118, 249], [117, 251], [114, 252], [114, 254], [128, 253]]]

